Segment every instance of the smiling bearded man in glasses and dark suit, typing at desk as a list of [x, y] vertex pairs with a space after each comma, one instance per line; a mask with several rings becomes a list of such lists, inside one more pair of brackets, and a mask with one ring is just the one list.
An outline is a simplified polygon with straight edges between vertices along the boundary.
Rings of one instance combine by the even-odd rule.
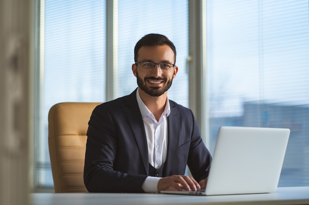
[[[89, 192], [205, 188], [211, 156], [190, 109], [168, 100], [178, 72], [174, 44], [141, 38], [132, 71], [138, 88], [96, 107], [89, 120], [84, 183]], [[193, 177], [184, 176], [186, 165]]]

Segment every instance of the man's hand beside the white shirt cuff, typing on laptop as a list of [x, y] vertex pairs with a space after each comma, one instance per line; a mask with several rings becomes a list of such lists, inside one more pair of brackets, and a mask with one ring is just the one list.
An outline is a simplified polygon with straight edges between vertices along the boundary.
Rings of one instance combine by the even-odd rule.
[[200, 189], [200, 185], [194, 178], [183, 175], [173, 175], [161, 178], [157, 185], [158, 192], [163, 190], [181, 191], [183, 189], [196, 191]]

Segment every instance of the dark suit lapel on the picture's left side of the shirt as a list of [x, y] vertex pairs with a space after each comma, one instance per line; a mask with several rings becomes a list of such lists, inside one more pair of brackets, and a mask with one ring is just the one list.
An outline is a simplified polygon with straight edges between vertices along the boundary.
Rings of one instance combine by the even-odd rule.
[[136, 90], [133, 91], [125, 102], [123, 109], [125, 116], [129, 122], [132, 132], [134, 133], [139, 151], [144, 163], [145, 171], [149, 174], [149, 160], [148, 160], [148, 145], [145, 133], [144, 122], [141, 117], [141, 112], [136, 100]]

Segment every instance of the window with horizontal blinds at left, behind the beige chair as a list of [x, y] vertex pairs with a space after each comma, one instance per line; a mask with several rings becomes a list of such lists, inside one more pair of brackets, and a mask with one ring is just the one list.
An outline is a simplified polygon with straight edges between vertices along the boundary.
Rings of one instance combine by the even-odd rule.
[[53, 185], [47, 145], [48, 111], [59, 102], [105, 101], [105, 0], [44, 0], [43, 129], [38, 185]]

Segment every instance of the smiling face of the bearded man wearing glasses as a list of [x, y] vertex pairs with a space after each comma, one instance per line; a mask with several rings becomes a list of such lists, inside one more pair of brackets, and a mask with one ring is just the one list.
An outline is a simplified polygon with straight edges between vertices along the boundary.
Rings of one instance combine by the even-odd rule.
[[[155, 63], [174, 63], [174, 52], [167, 45], [162, 46], [143, 46], [138, 51], [138, 61]], [[144, 92], [151, 96], [160, 96], [165, 93], [172, 85], [178, 67], [174, 66], [169, 70], [162, 71], [155, 65], [151, 71], [141, 69], [141, 65], [133, 64], [132, 70], [137, 78], [137, 84]]]

